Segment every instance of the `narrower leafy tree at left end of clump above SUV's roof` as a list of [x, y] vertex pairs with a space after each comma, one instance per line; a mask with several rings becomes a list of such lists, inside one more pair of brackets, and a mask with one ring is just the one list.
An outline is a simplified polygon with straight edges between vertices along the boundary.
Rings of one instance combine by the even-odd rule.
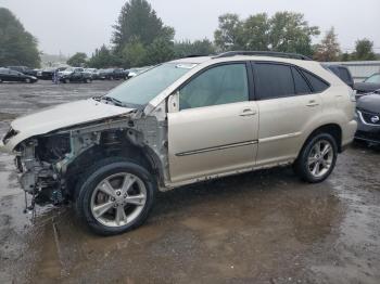
[[242, 31], [242, 22], [238, 14], [219, 16], [219, 26], [214, 33], [215, 46], [219, 51], [241, 49]]

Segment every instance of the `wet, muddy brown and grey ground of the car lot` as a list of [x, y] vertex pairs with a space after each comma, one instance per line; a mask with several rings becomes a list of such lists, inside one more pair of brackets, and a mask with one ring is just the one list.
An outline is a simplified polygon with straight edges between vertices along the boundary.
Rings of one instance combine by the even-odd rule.
[[[0, 135], [15, 116], [118, 82], [0, 85]], [[0, 283], [379, 283], [380, 151], [354, 145], [320, 184], [290, 168], [159, 194], [148, 222], [99, 237], [69, 207], [23, 215], [0, 155]]]

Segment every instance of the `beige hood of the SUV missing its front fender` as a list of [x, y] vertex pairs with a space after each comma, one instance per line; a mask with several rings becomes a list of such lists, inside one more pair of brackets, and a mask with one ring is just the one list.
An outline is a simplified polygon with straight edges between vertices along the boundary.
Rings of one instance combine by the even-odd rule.
[[92, 99], [42, 108], [12, 121], [11, 127], [17, 131], [17, 134], [7, 142], [5, 150], [8, 152], [13, 151], [20, 142], [30, 137], [46, 134], [75, 125], [126, 115], [132, 111], [135, 108], [105, 104]]

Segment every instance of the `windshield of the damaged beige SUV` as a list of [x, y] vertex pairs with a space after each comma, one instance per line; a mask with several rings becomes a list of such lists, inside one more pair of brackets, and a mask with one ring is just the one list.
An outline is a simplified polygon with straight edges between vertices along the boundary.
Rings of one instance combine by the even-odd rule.
[[145, 105], [194, 66], [178, 63], [159, 65], [113, 89], [106, 96], [125, 104]]

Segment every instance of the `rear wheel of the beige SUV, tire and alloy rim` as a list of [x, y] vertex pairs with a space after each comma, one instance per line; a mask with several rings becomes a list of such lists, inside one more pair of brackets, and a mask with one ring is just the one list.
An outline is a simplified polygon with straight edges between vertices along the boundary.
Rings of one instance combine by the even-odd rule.
[[293, 167], [304, 181], [318, 183], [331, 175], [337, 157], [335, 139], [329, 133], [318, 133], [306, 141]]

